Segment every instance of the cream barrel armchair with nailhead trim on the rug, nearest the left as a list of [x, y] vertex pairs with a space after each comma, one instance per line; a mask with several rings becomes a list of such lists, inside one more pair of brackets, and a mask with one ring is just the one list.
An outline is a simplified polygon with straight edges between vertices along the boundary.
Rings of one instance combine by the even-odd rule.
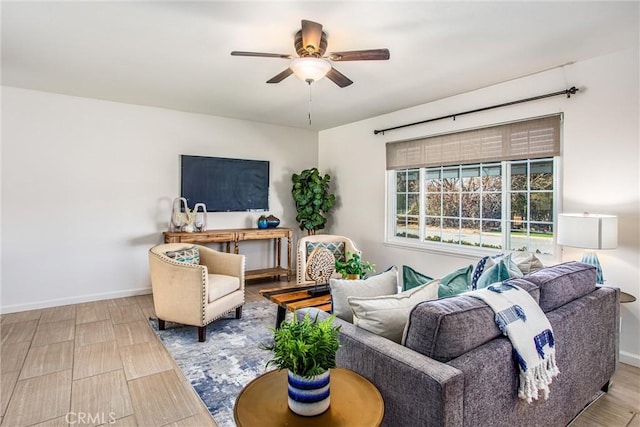
[[[178, 261], [174, 255], [195, 246], [199, 264]], [[244, 304], [244, 255], [218, 252], [190, 243], [169, 243], [149, 250], [153, 304], [158, 328], [165, 322], [198, 327], [198, 339], [206, 340], [206, 326], [235, 310], [242, 315]]]

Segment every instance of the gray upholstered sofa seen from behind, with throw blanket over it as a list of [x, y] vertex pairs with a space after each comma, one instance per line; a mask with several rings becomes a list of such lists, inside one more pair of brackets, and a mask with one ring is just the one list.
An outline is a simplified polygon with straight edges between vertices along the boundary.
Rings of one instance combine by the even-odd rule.
[[529, 404], [517, 397], [509, 339], [485, 303], [459, 295], [414, 307], [404, 345], [336, 319], [338, 366], [377, 386], [383, 425], [565, 426], [606, 390], [618, 359], [619, 290], [596, 287], [595, 269], [577, 262], [509, 282], [539, 302], [553, 328], [560, 374], [549, 399]]

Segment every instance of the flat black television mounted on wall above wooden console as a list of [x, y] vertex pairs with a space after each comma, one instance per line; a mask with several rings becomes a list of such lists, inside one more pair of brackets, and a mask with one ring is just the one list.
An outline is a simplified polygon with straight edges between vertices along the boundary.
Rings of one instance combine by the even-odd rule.
[[180, 156], [180, 193], [193, 209], [207, 212], [269, 210], [269, 162], [224, 157]]

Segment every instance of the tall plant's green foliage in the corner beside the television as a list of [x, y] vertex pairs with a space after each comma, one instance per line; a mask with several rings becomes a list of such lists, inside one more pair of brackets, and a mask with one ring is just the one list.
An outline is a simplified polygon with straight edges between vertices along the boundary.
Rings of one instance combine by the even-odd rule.
[[333, 194], [329, 193], [331, 176], [320, 175], [317, 168], [305, 169], [300, 174], [291, 176], [293, 188], [291, 195], [296, 205], [296, 221], [301, 230], [307, 234], [316, 234], [327, 223], [327, 214], [336, 202]]

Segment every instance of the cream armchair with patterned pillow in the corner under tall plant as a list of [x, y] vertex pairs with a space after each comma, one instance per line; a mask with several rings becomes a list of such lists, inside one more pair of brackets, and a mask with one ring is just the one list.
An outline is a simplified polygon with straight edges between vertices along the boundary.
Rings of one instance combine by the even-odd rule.
[[[342, 258], [346, 256], [346, 253], [360, 254], [360, 249], [351, 239], [345, 236], [338, 236], [333, 234], [315, 234], [313, 236], [305, 236], [298, 240], [297, 250], [297, 265], [296, 265], [296, 283], [298, 285], [311, 285], [315, 281], [309, 276], [307, 271], [307, 264], [309, 262], [309, 256], [316, 247], [324, 247], [331, 251], [336, 258]], [[337, 273], [334, 274], [337, 276]]]

